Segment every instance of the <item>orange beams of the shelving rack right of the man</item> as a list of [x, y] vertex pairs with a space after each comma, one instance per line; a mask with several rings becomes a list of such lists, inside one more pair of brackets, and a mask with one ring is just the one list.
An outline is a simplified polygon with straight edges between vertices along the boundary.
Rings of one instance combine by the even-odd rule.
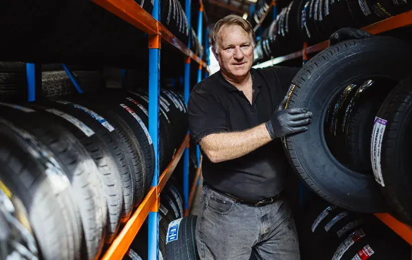
[[[276, 16], [275, 16], [276, 18]], [[371, 25], [361, 28], [371, 34], [379, 34], [392, 29], [412, 25], [412, 10], [400, 13], [396, 16], [387, 18], [385, 20], [373, 23]], [[312, 46], [307, 46], [304, 42], [302, 50], [296, 52], [276, 57], [268, 61], [256, 64], [254, 68], [263, 68], [272, 65], [282, 63], [287, 60], [296, 59], [302, 57], [303, 64], [308, 60], [307, 54], [319, 52], [329, 46], [329, 40], [322, 41]], [[394, 232], [396, 232], [400, 237], [402, 237], [406, 242], [412, 245], [412, 227], [400, 222], [388, 213], [375, 213], [375, 216], [389, 226]]]

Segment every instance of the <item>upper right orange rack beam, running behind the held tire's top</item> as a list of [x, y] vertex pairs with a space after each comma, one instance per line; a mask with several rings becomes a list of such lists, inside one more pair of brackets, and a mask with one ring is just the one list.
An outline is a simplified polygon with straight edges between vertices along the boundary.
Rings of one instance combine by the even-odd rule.
[[[382, 33], [385, 31], [389, 31], [392, 29], [396, 29], [396, 28], [400, 28], [400, 27], [404, 27], [408, 25], [412, 25], [412, 10], [409, 10], [409, 11], [400, 13], [398, 15], [395, 15], [393, 17], [378, 21], [371, 25], [362, 27], [361, 29], [371, 34], [378, 34], [378, 33]], [[306, 53], [309, 54], [309, 53], [318, 52], [318, 51], [321, 51], [327, 48], [328, 46], [329, 46], [329, 40], [325, 40], [325, 41], [319, 42], [318, 44], [309, 46], [306, 49]], [[280, 57], [276, 57], [268, 61], [264, 61], [262, 63], [254, 65], [253, 67], [255, 68], [267, 67], [267, 66], [279, 64], [286, 60], [291, 60], [291, 59], [295, 59], [298, 57], [302, 57], [302, 55], [303, 55], [303, 50], [298, 50], [296, 52], [293, 52], [293, 53], [290, 53], [284, 56], [280, 56]]]

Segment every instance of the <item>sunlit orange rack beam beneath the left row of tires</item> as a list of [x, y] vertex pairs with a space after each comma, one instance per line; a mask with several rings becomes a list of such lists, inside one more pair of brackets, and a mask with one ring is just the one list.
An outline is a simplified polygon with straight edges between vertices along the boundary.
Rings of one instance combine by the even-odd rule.
[[[162, 172], [159, 177], [159, 184], [157, 187], [152, 186], [147, 193], [146, 197], [140, 203], [139, 207], [136, 211], [132, 214], [129, 220], [124, 225], [123, 229], [114, 239], [110, 247], [106, 250], [104, 255], [101, 257], [102, 260], [114, 260], [114, 259], [122, 259], [124, 254], [126, 253], [127, 249], [129, 248], [130, 244], [132, 243], [134, 237], [136, 236], [137, 232], [139, 231], [141, 225], [143, 224], [144, 220], [146, 219], [147, 215], [149, 214], [150, 210], [155, 207], [156, 205], [156, 197], [157, 192], [163, 189], [166, 181], [169, 179], [171, 173], [175, 169], [178, 161], [180, 160], [184, 148], [187, 146], [189, 141], [189, 136], [186, 135], [182, 144], [179, 146], [179, 149], [174, 154], [172, 160], [167, 165], [166, 169]], [[156, 190], [158, 190], [156, 192]]]

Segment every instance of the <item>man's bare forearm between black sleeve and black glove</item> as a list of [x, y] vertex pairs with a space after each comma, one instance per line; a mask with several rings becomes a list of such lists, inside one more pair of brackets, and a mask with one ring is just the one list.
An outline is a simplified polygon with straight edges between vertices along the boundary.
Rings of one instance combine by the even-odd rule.
[[241, 157], [271, 140], [263, 123], [245, 131], [212, 133], [199, 144], [212, 162], [221, 162]]

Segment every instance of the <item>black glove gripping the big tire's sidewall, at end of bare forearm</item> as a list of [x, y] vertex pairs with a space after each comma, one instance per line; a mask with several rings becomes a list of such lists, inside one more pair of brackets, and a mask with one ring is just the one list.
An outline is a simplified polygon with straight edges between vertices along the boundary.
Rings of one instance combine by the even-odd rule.
[[308, 129], [306, 125], [312, 120], [312, 112], [307, 108], [284, 109], [287, 100], [288, 95], [274, 111], [272, 118], [266, 122], [266, 128], [272, 139], [306, 131]]

